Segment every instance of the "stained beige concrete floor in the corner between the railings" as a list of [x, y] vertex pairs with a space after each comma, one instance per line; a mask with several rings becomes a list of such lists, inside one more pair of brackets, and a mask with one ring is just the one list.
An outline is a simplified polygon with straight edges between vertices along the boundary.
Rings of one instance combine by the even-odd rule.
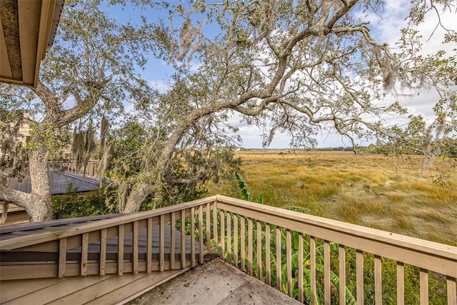
[[275, 305], [300, 302], [218, 258], [196, 266], [128, 304]]

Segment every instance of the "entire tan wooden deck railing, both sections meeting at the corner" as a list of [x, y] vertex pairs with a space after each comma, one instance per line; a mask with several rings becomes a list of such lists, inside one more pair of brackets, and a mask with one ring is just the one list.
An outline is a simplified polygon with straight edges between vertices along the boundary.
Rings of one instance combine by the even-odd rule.
[[0, 249], [1, 280], [186, 269], [216, 251], [305, 304], [457, 304], [455, 246], [219, 195]]

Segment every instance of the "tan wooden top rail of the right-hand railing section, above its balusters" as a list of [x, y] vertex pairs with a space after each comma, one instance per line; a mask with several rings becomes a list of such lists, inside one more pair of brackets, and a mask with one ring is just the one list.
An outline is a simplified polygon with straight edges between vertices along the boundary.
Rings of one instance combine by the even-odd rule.
[[457, 277], [457, 247], [217, 195], [218, 209]]

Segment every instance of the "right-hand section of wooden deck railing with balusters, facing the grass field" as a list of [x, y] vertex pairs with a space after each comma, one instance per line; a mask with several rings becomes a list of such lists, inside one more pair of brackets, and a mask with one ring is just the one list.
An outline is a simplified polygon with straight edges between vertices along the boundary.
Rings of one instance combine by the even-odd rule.
[[[455, 246], [225, 196], [217, 196], [217, 208], [224, 258], [298, 301], [382, 304], [383, 297], [390, 297], [384, 304], [405, 304], [407, 295], [408, 301], [417, 300], [414, 304], [428, 304], [430, 292], [437, 298], [444, 295], [447, 304], [457, 303]], [[368, 262], [373, 270], [367, 268]], [[383, 272], [383, 266], [392, 263], [393, 272]], [[415, 269], [418, 291], [410, 291]], [[393, 276], [395, 287], [384, 286], [383, 280]], [[374, 290], [368, 291], [370, 296], [364, 289], [367, 282]], [[348, 286], [355, 286], [356, 292]]]

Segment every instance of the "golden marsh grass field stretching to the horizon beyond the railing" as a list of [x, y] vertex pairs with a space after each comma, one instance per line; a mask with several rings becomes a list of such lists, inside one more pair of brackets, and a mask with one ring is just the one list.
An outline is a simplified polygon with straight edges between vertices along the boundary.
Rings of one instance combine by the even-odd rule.
[[[457, 245], [457, 161], [436, 159], [420, 174], [420, 156], [393, 159], [346, 151], [239, 151], [253, 201], [303, 206], [310, 214]], [[438, 170], [446, 184], [433, 183]], [[234, 178], [233, 178], [234, 179]], [[241, 198], [229, 185], [210, 194]]]

